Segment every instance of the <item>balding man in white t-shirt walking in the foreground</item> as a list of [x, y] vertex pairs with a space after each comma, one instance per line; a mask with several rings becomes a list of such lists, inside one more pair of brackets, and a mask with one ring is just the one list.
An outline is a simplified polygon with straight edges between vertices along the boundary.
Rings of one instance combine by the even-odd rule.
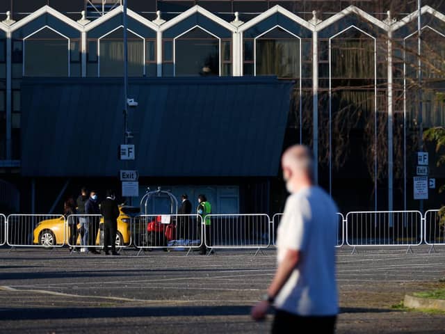
[[291, 196], [277, 231], [275, 276], [252, 317], [264, 319], [276, 308], [272, 333], [303, 326], [314, 333], [334, 333], [339, 310], [335, 279], [337, 206], [313, 182], [308, 148], [295, 145], [282, 157], [283, 177]]

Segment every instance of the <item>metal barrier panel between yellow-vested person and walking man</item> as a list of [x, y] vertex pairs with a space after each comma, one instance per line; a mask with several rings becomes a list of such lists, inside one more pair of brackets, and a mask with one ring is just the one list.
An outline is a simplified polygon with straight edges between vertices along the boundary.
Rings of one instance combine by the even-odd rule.
[[267, 214], [209, 214], [209, 248], [267, 248], [270, 246], [270, 218]]

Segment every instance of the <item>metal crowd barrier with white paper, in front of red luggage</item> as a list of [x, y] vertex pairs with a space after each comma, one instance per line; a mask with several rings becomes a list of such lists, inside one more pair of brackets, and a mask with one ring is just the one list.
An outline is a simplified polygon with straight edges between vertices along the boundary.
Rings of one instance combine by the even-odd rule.
[[190, 252], [202, 246], [202, 235], [202, 219], [196, 214], [143, 214], [131, 223], [131, 237], [139, 253], [156, 248]]

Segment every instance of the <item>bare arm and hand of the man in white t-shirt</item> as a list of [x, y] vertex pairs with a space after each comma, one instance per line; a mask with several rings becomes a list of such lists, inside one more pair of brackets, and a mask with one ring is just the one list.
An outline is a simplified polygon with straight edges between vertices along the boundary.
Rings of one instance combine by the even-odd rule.
[[[275, 276], [273, 277], [272, 283], [270, 283], [267, 294], [269, 299], [275, 299], [278, 292], [282, 289], [284, 284], [291, 276], [293, 269], [296, 269], [298, 263], [300, 262], [301, 253], [299, 250], [288, 249], [284, 259], [280, 263], [275, 271]], [[266, 312], [270, 307], [269, 301], [261, 301], [252, 308], [252, 318], [255, 320], [261, 320], [266, 317]]]

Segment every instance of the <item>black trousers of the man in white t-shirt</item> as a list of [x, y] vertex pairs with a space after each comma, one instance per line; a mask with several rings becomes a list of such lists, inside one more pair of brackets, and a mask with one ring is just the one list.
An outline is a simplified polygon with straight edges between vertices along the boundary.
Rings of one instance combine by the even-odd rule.
[[272, 334], [291, 333], [291, 331], [303, 333], [303, 328], [306, 328], [306, 333], [333, 334], [335, 333], [336, 321], [337, 315], [327, 317], [302, 317], [283, 310], [276, 310], [272, 324]]

